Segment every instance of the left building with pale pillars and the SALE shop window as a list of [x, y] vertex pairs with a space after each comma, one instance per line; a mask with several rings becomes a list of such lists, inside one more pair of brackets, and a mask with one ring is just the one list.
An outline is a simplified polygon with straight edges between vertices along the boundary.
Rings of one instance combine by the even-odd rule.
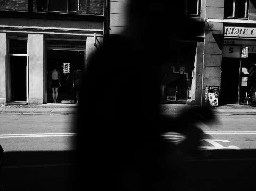
[[72, 73], [85, 71], [103, 45], [105, 13], [104, 0], [1, 0], [0, 103], [52, 103], [53, 68], [61, 73], [58, 102], [76, 100]]

